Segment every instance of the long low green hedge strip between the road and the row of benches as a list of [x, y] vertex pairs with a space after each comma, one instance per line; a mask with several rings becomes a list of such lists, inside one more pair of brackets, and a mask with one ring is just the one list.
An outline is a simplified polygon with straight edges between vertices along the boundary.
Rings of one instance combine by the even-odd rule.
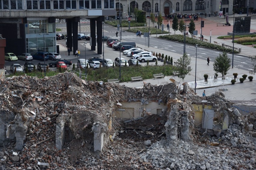
[[[168, 40], [171, 40], [171, 41], [181, 42], [181, 43], [184, 42], [184, 36], [182, 36], [182, 35], [170, 35], [170, 34], [168, 34], [168, 35], [164, 35], [164, 36], [159, 36], [159, 38], [168, 39]], [[198, 39], [194, 39], [194, 38], [190, 38], [190, 37], [186, 38], [186, 43], [190, 44], [190, 45], [198, 44], [198, 46], [200, 46], [200, 47], [215, 49], [215, 50], [219, 50], [219, 51], [223, 51], [223, 52], [227, 52], [227, 53], [232, 53], [232, 51], [233, 51], [232, 49], [224, 48], [221, 45], [215, 45], [215, 44], [212, 44], [212, 43], [200, 41]], [[234, 51], [234, 53], [239, 53], [239, 52]]]

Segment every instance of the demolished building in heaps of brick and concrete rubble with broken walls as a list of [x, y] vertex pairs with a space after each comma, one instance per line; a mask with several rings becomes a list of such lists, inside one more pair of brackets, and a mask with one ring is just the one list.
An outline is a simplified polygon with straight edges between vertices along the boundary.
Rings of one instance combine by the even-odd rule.
[[256, 169], [255, 113], [186, 83], [1, 82], [0, 169]]

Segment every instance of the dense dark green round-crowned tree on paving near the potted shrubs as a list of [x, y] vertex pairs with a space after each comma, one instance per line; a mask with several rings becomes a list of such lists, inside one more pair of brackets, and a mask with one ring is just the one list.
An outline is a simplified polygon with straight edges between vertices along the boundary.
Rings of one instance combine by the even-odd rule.
[[215, 73], [221, 73], [222, 76], [224, 76], [228, 73], [227, 71], [230, 69], [230, 62], [231, 60], [227, 56], [227, 53], [223, 52], [223, 54], [219, 54], [219, 56], [215, 58], [215, 61], [213, 63], [213, 70], [215, 71]]

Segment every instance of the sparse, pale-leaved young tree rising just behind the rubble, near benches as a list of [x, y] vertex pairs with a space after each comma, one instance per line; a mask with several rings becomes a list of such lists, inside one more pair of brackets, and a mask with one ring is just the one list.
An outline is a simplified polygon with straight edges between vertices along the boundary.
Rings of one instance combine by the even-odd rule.
[[184, 53], [183, 56], [177, 59], [177, 62], [180, 63], [180, 65], [177, 67], [177, 71], [179, 72], [178, 78], [181, 78], [182, 81], [184, 81], [186, 75], [190, 75], [190, 71], [192, 70], [188, 70], [188, 65], [191, 63], [191, 58], [187, 55], [187, 53]]

